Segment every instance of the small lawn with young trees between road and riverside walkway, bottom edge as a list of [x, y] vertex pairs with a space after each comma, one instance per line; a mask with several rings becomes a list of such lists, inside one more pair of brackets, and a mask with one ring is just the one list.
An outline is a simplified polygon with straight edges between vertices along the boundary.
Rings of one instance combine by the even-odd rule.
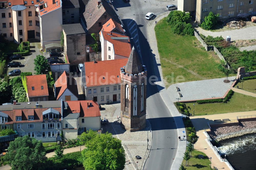
[[[203, 155], [204, 158], [203, 159], [199, 159], [197, 157], [198, 155]], [[209, 170], [210, 169], [210, 160], [208, 159], [206, 154], [204, 154], [203, 152], [200, 152], [198, 150], [194, 150], [192, 152], [192, 156], [193, 157], [191, 157], [188, 160], [189, 166], [185, 166], [186, 165], [186, 161], [185, 160], [182, 161], [182, 163], [183, 163], [184, 167], [186, 168], [186, 170], [196, 170], [196, 169]]]

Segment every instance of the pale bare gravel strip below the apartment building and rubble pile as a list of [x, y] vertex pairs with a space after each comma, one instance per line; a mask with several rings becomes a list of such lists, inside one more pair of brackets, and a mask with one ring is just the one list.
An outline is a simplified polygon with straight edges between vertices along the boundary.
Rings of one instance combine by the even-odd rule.
[[200, 27], [195, 28], [200, 34], [203, 34], [204, 36], [213, 36], [218, 37], [222, 36], [224, 39], [226, 39], [227, 36], [231, 37], [231, 41], [234, 40], [251, 40], [256, 39], [255, 29], [256, 27], [246, 27], [242, 29], [234, 29], [234, 30], [227, 30], [222, 32], [212, 32], [208, 30], [204, 30]]

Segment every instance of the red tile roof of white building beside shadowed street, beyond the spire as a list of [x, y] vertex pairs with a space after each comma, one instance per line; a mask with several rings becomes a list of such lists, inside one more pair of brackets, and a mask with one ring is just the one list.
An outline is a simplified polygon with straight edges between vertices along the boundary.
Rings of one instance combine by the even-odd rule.
[[[109, 41], [114, 46], [114, 52], [117, 55], [129, 57], [132, 48], [130, 43], [130, 38], [125, 35], [121, 35], [114, 32], [105, 32], [102, 31], [104, 40]], [[124, 38], [124, 39], [114, 39], [114, 38]], [[127, 38], [127, 39], [125, 39]]]

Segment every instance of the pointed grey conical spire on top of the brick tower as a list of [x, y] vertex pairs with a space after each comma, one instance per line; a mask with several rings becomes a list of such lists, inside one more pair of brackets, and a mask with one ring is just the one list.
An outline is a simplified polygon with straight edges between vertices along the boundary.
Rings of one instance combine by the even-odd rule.
[[129, 74], [138, 74], [142, 71], [143, 71], [143, 68], [142, 68], [140, 59], [138, 58], [138, 54], [133, 46], [131, 54], [125, 65], [125, 72]]

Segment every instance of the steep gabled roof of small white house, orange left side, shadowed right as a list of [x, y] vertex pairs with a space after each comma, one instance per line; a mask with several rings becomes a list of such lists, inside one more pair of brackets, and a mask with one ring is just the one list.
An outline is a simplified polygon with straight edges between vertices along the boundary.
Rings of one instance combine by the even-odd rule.
[[[71, 81], [70, 81], [71, 78]], [[64, 71], [58, 80], [55, 82], [56, 87], [56, 100], [60, 98], [60, 96], [65, 92], [66, 89], [69, 89], [71, 93], [78, 97], [78, 89], [75, 84], [76, 80], [73, 77], [69, 77], [68, 73]]]

